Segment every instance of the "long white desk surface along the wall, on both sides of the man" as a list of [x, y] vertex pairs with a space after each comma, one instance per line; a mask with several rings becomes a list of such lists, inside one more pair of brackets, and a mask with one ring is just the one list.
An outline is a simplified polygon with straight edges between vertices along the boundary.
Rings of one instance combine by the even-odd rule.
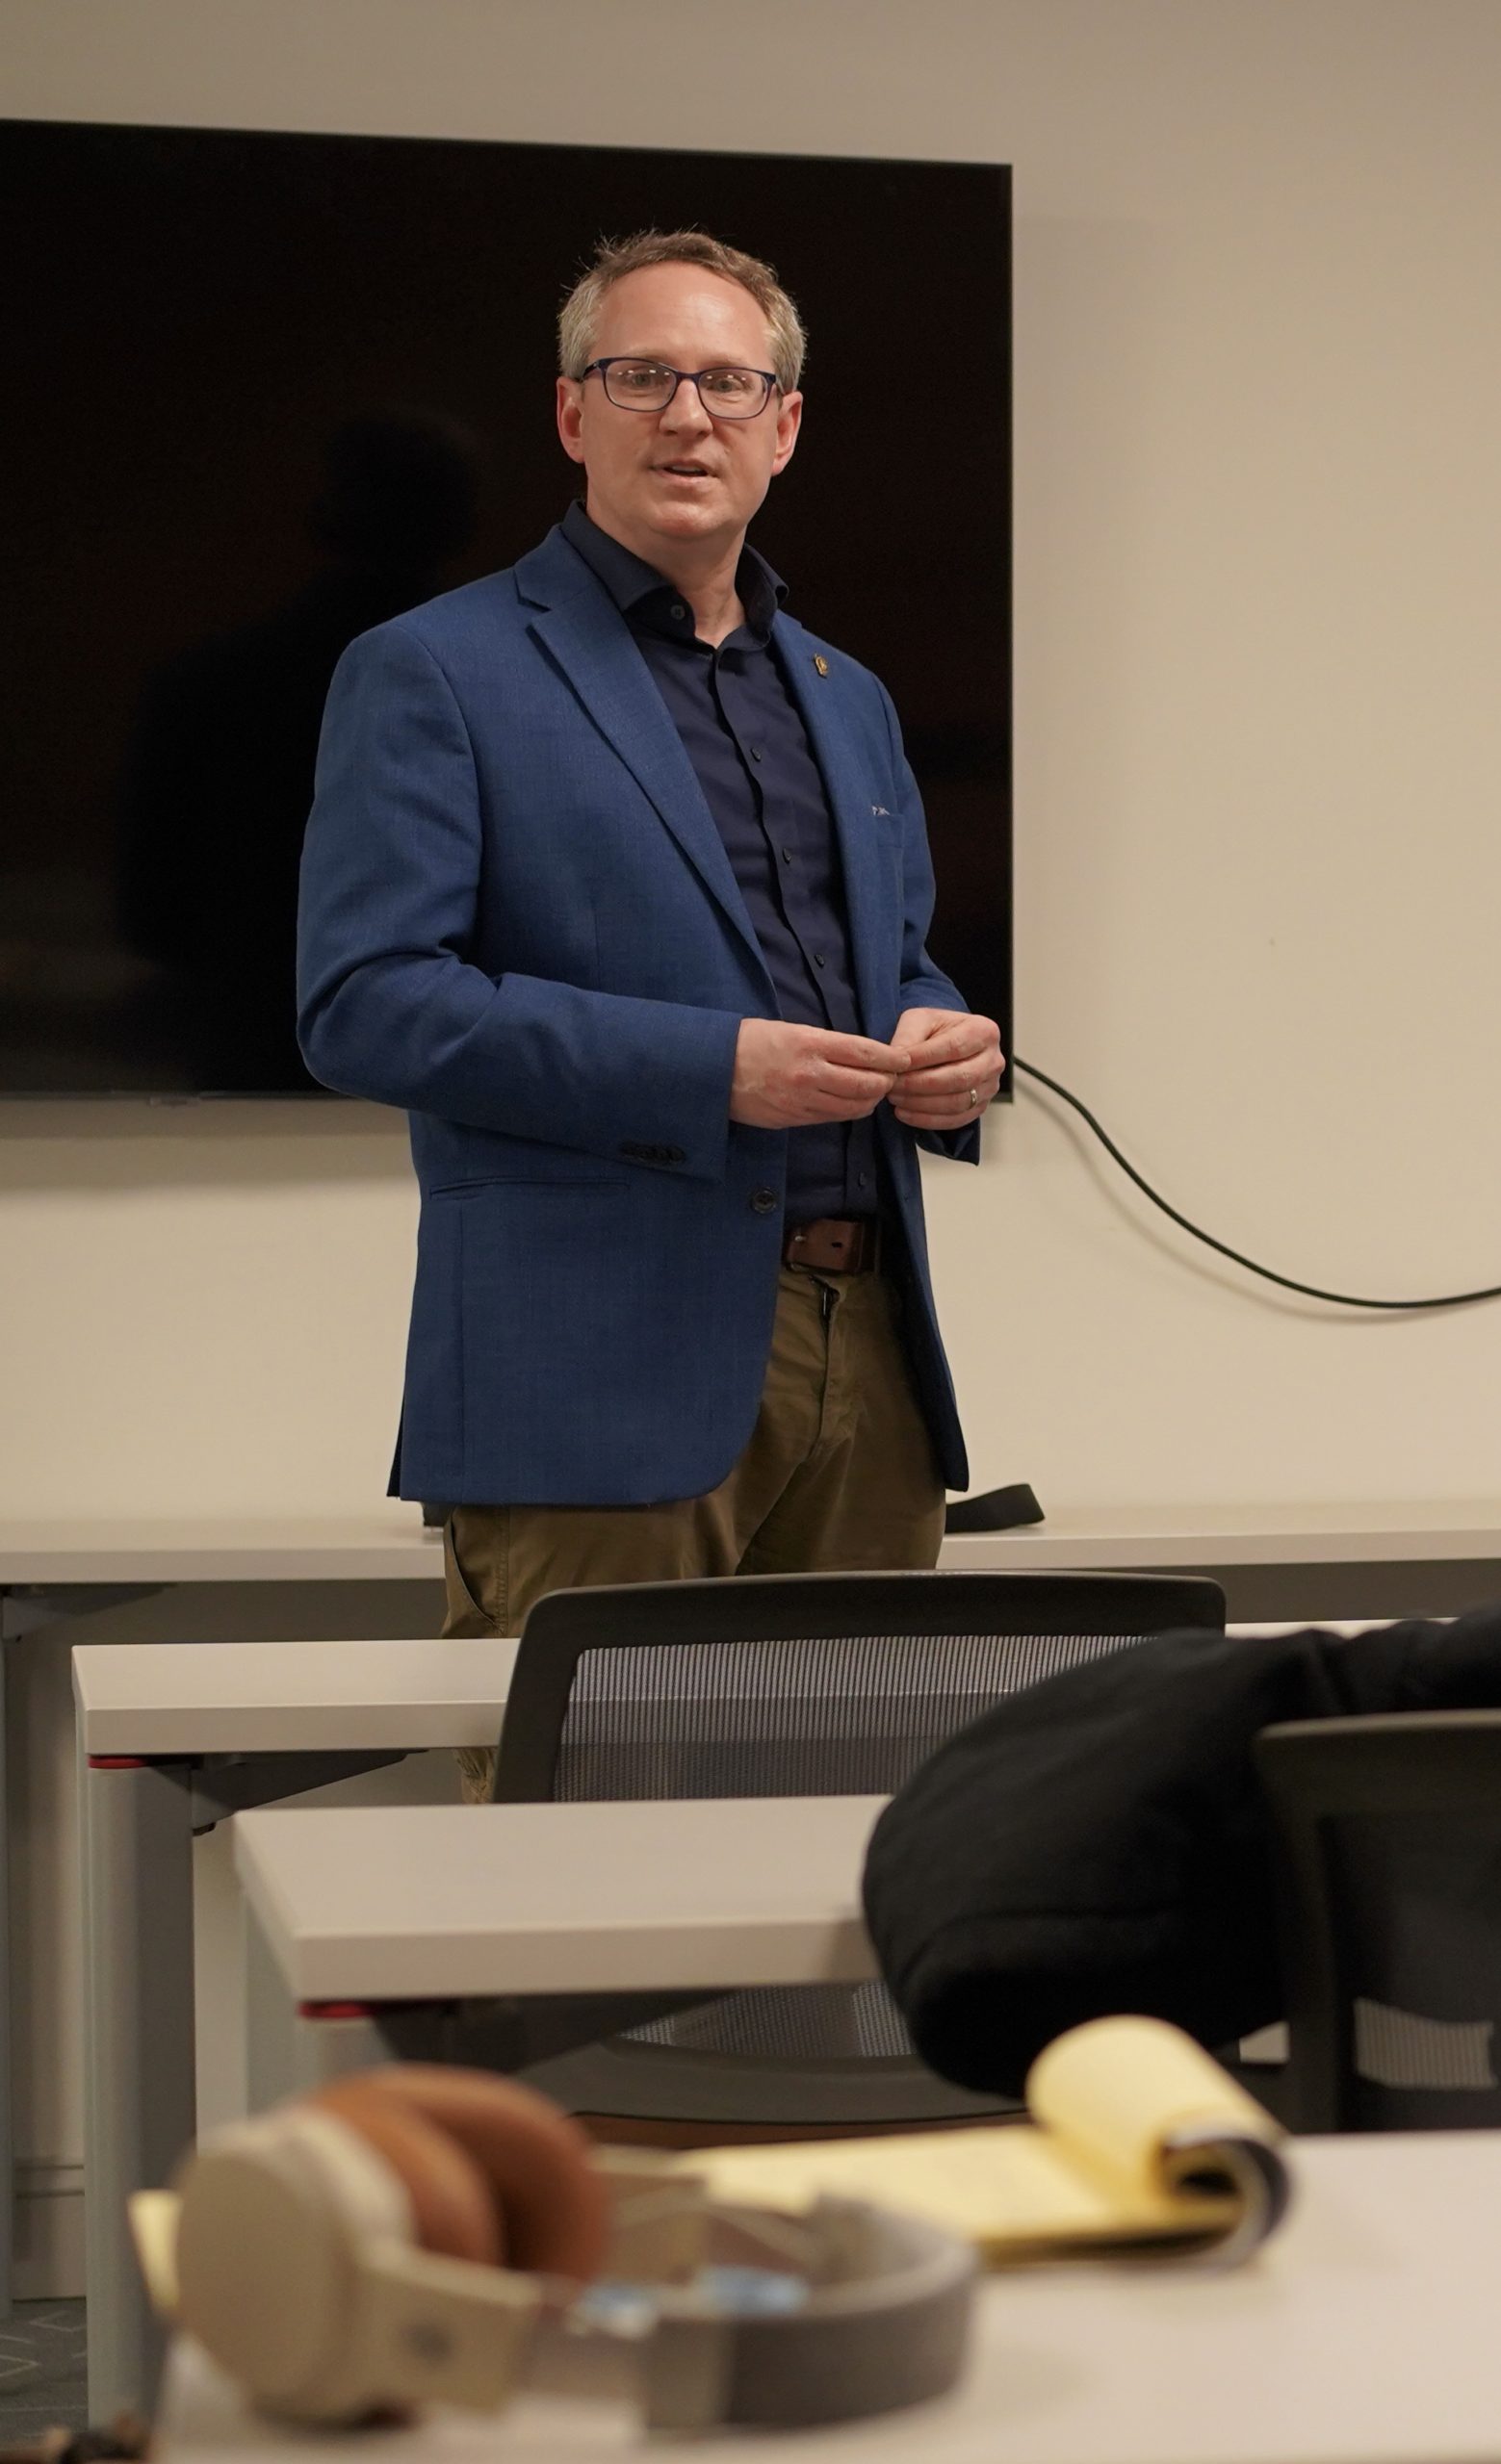
[[[1252, 1567], [1501, 1557], [1496, 1498], [1373, 1506], [1070, 1506], [1013, 1533], [956, 1533], [942, 1565]], [[0, 1520], [0, 1584], [421, 1582], [441, 1538], [414, 1506], [372, 1515]]]

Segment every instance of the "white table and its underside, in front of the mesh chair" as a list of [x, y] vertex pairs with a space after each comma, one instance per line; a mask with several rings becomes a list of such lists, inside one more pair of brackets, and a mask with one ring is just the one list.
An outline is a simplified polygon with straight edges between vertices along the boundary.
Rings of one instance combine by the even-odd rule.
[[[737, 1986], [875, 1976], [882, 1796], [264, 1809], [234, 1823], [249, 2099], [392, 2055], [495, 2070]], [[426, 2013], [478, 2003], [483, 2035]]]

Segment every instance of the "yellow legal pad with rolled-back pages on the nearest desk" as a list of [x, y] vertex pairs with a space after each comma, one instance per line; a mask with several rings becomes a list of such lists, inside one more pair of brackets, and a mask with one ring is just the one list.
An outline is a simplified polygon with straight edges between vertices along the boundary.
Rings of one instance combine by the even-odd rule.
[[927, 2215], [991, 2267], [1094, 2252], [1240, 2257], [1287, 2208], [1282, 2126], [1178, 2028], [1102, 2018], [1028, 2072], [1030, 2122], [707, 2149], [712, 2198], [808, 2208], [868, 2198]]

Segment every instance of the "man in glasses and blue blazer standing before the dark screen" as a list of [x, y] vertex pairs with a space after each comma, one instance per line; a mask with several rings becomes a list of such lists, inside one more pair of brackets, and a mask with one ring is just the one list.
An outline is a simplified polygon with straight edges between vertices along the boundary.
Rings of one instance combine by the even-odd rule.
[[892, 705], [744, 545], [796, 308], [648, 232], [559, 340], [584, 503], [352, 643], [303, 855], [308, 1067], [412, 1114], [392, 1488], [454, 1501], [449, 1634], [579, 1582], [937, 1560], [966, 1464], [917, 1143], [974, 1161], [1003, 1067], [924, 951]]

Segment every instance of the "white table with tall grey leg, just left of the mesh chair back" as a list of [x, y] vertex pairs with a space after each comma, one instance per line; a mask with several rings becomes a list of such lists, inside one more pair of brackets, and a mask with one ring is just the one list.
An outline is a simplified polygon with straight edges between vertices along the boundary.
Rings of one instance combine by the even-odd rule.
[[74, 1651], [94, 2420], [155, 2365], [126, 2200], [195, 2131], [195, 1833], [424, 1747], [495, 1745], [513, 1663], [510, 1639]]

